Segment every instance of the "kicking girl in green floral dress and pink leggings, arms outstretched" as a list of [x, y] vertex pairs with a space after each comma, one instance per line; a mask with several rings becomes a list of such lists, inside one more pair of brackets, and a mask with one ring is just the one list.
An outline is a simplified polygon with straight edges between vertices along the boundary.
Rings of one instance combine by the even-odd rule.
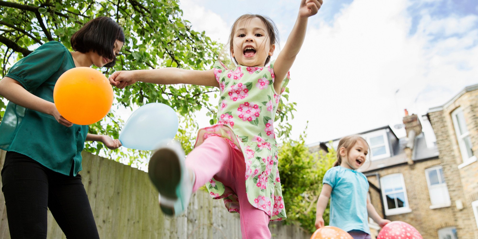
[[191, 193], [206, 184], [213, 198], [224, 198], [229, 212], [240, 213], [243, 238], [270, 238], [269, 221], [286, 218], [273, 122], [289, 69], [304, 42], [307, 19], [321, 4], [302, 0], [287, 43], [269, 65], [277, 29], [269, 18], [247, 14], [231, 29], [230, 53], [237, 63], [232, 69], [218, 62], [206, 71], [167, 67], [119, 71], [109, 77], [119, 88], [142, 81], [220, 89], [217, 124], [199, 130], [186, 160], [176, 143], [151, 157], [149, 175], [164, 213], [183, 212]]

